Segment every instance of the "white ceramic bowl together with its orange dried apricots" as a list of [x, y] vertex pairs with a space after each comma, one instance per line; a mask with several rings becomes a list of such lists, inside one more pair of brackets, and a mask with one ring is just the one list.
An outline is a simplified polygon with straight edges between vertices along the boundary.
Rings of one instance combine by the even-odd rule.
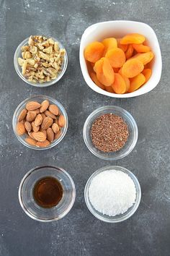
[[161, 51], [153, 29], [142, 22], [100, 22], [81, 38], [81, 72], [89, 87], [113, 98], [148, 93], [161, 78]]

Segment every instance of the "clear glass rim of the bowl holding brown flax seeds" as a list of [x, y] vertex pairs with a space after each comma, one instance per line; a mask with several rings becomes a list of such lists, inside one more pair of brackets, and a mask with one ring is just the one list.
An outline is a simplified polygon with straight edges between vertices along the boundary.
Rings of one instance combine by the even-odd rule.
[[[125, 151], [124, 154], [122, 155], [117, 155], [117, 156], [114, 156], [114, 157], [107, 157], [107, 156], [104, 156], [104, 155], [99, 155], [99, 153], [95, 152], [91, 146], [89, 145], [87, 139], [86, 139], [86, 127], [88, 126], [89, 122], [91, 121], [91, 119], [93, 118], [93, 116], [95, 114], [98, 114], [99, 112], [103, 112], [105, 110], [109, 110], [110, 108], [112, 108], [112, 110], [117, 110], [117, 111], [120, 111], [120, 113], [124, 113], [126, 114], [126, 116], [129, 117], [129, 120], [131, 122], [131, 124], [133, 124], [133, 127], [134, 127], [134, 137], [133, 137], [133, 142], [131, 143], [130, 145], [130, 148], [128, 150]], [[102, 113], [101, 113], [102, 115]], [[118, 114], [117, 114], [118, 115]], [[128, 120], [128, 121], [129, 121]], [[86, 118], [86, 121], [84, 122], [84, 128], [83, 128], [83, 137], [84, 137], [84, 142], [86, 144], [86, 147], [89, 149], [89, 151], [94, 154], [95, 156], [97, 156], [98, 158], [101, 158], [103, 160], [107, 160], [107, 161], [116, 161], [118, 159], [121, 159], [121, 158], [124, 158], [125, 156], [129, 155], [130, 152], [135, 148], [135, 145], [138, 141], [138, 126], [136, 124], [136, 121], [135, 119], [133, 118], [133, 116], [130, 114], [130, 112], [128, 112], [127, 110], [125, 110], [124, 108], [121, 108], [120, 106], [102, 106], [102, 107], [99, 107], [97, 109], [95, 109], [94, 111], [91, 112], [91, 114], [89, 114], [89, 116], [87, 116]]]

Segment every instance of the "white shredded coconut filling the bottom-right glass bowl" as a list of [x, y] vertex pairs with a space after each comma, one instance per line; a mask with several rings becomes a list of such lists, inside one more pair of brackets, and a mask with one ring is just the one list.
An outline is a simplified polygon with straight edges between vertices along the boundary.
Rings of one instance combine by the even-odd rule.
[[122, 171], [103, 171], [92, 179], [89, 200], [96, 210], [107, 216], [125, 213], [135, 202], [133, 179]]

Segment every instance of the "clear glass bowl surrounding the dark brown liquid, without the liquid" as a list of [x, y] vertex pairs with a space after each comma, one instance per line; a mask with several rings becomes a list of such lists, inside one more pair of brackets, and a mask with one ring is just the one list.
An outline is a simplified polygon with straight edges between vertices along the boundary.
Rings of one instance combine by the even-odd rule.
[[[61, 182], [63, 197], [53, 208], [42, 208], [33, 197], [36, 182], [42, 177], [52, 176]], [[32, 168], [23, 177], [19, 185], [19, 203], [30, 218], [36, 221], [58, 221], [71, 210], [76, 197], [76, 188], [71, 176], [63, 168], [55, 166], [40, 166]]]

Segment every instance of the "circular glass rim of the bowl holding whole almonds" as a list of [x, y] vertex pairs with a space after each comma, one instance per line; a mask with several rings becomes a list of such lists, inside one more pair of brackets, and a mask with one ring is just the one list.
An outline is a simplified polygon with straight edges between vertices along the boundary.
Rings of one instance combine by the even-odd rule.
[[[46, 98], [50, 102], [55, 102], [55, 104], [58, 106], [59, 110], [62, 112], [63, 116], [66, 118], [66, 126], [64, 127], [64, 130], [63, 130], [63, 133], [62, 133], [61, 137], [59, 137], [58, 140], [54, 140], [52, 143], [50, 143], [50, 145], [48, 147], [45, 147], [45, 148], [34, 147], [32, 145], [29, 145], [27, 142], [25, 142], [22, 139], [22, 136], [17, 135], [16, 126], [15, 126], [16, 116], [17, 116], [17, 113], [19, 111], [19, 108], [22, 108], [24, 106], [24, 104], [26, 104], [27, 102], [29, 102], [29, 101], [31, 101], [35, 98], [39, 98], [39, 97], [42, 98], [42, 100], [44, 98]], [[15, 109], [13, 117], [12, 117], [12, 128], [13, 128], [13, 131], [14, 131], [14, 135], [17, 137], [19, 142], [22, 143], [22, 145], [26, 146], [27, 148], [33, 149], [33, 150], [47, 150], [49, 148], [53, 148], [56, 145], [58, 145], [58, 143], [61, 142], [61, 140], [63, 140], [63, 137], [65, 137], [67, 129], [68, 129], [68, 115], [67, 115], [66, 109], [63, 107], [63, 105], [59, 101], [57, 101], [55, 98], [52, 98], [48, 95], [32, 95], [29, 98], [24, 99], [24, 101], [22, 101], [21, 103], [19, 103], [19, 105]]]

